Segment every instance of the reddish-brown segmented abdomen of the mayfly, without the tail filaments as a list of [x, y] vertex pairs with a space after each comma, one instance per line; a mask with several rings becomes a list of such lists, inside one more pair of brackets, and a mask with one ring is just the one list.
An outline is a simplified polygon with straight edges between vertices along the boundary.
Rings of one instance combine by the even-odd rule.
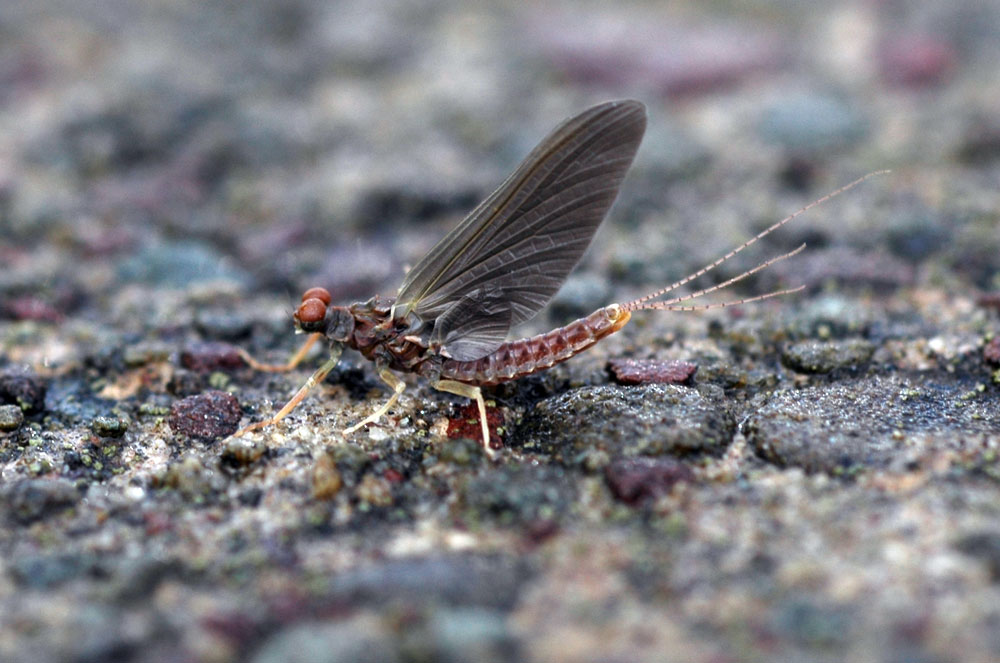
[[628, 322], [631, 313], [617, 304], [605, 306], [586, 318], [550, 332], [508, 341], [491, 354], [472, 361], [445, 359], [441, 377], [473, 385], [515, 380], [566, 361]]

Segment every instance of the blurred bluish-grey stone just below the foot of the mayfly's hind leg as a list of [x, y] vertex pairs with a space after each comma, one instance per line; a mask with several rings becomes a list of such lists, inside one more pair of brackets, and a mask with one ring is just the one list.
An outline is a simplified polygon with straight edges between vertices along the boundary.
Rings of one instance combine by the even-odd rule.
[[508, 466], [468, 481], [461, 500], [473, 522], [526, 525], [558, 520], [575, 503], [576, 488], [562, 468]]

